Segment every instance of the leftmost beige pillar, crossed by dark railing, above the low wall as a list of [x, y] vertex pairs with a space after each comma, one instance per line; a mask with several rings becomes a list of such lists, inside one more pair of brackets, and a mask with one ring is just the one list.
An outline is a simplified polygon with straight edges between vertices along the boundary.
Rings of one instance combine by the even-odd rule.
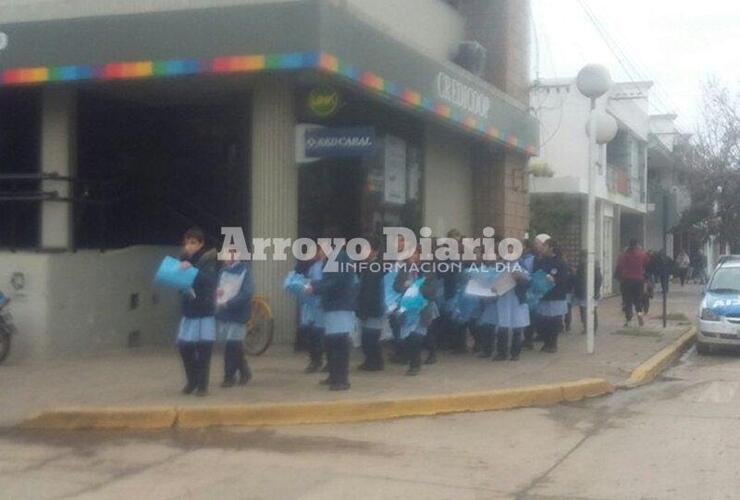
[[[41, 172], [62, 177], [73, 176], [77, 165], [77, 96], [69, 87], [47, 87], [41, 107]], [[68, 197], [71, 184], [67, 181], [44, 181], [45, 192], [56, 191]], [[41, 204], [41, 247], [64, 249], [72, 247], [72, 204], [43, 202]]]

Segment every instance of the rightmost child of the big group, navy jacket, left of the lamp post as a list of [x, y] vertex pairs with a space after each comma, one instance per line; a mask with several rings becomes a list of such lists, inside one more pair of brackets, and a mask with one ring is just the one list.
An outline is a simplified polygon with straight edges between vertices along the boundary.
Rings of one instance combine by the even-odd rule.
[[542, 351], [555, 353], [558, 351], [558, 335], [563, 331], [563, 318], [568, 307], [566, 294], [570, 277], [560, 247], [552, 238], [544, 244], [542, 258], [535, 268], [535, 271], [537, 270], [544, 271], [555, 285], [537, 304], [540, 332], [545, 341]]

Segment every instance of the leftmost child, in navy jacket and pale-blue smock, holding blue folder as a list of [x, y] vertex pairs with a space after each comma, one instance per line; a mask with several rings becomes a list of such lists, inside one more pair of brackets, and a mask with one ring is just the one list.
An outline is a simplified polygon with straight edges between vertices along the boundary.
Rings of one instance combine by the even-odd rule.
[[182, 319], [177, 345], [185, 368], [184, 394], [208, 394], [211, 354], [216, 340], [215, 297], [218, 280], [216, 250], [206, 247], [205, 234], [199, 228], [188, 229], [183, 236], [180, 267], [198, 270], [192, 288], [183, 294]]

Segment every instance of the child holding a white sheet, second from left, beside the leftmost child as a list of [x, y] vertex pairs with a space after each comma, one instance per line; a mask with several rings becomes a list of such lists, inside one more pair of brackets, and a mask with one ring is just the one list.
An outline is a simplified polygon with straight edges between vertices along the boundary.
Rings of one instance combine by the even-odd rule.
[[236, 376], [239, 385], [246, 385], [252, 372], [244, 356], [244, 339], [247, 335], [247, 321], [251, 313], [254, 281], [252, 268], [248, 262], [232, 260], [226, 263], [219, 273], [216, 290], [216, 330], [226, 339], [224, 346], [224, 381], [221, 387], [234, 387]]

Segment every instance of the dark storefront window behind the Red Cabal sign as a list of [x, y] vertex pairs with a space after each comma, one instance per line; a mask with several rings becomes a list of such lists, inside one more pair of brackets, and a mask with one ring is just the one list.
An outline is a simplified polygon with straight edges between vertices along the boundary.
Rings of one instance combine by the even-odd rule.
[[418, 231], [422, 218], [421, 134], [408, 116], [346, 90], [299, 92], [299, 122], [327, 129], [372, 127], [372, 153], [326, 157], [299, 165], [299, 233], [329, 227], [346, 237], [382, 235], [384, 226]]

